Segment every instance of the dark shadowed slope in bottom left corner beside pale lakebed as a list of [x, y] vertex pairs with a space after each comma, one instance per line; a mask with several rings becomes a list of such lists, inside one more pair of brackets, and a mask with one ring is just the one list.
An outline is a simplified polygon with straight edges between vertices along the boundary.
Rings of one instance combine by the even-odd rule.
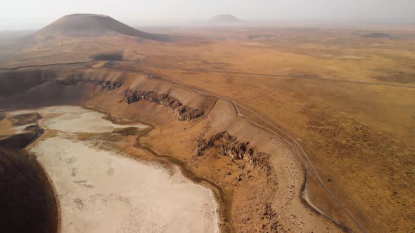
[[1, 232], [57, 232], [53, 187], [37, 159], [23, 150], [42, 133], [29, 126], [25, 133], [0, 135]]

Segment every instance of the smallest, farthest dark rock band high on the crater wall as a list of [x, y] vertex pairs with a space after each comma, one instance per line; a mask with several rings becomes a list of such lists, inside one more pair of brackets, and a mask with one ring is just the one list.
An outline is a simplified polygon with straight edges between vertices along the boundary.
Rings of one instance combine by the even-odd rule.
[[56, 82], [65, 86], [77, 85], [79, 82], [82, 82], [85, 84], [95, 84], [102, 86], [102, 88], [106, 88], [108, 90], [120, 88], [122, 85], [122, 82], [120, 81], [110, 81], [106, 79], [88, 79], [85, 78], [83, 74], [71, 74], [66, 79], [56, 79]]

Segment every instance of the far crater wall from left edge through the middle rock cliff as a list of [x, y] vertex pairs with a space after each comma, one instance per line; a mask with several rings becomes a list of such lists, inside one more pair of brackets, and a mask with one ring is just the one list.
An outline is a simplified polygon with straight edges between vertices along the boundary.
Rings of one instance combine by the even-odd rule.
[[0, 84], [0, 109], [106, 101], [104, 96], [108, 95], [111, 100], [128, 104], [140, 100], [155, 102], [177, 114], [179, 121], [189, 121], [205, 115], [216, 101], [170, 82], [150, 79], [145, 73], [105, 68], [76, 67], [68, 72], [62, 72], [60, 67], [18, 69], [1, 72]]

